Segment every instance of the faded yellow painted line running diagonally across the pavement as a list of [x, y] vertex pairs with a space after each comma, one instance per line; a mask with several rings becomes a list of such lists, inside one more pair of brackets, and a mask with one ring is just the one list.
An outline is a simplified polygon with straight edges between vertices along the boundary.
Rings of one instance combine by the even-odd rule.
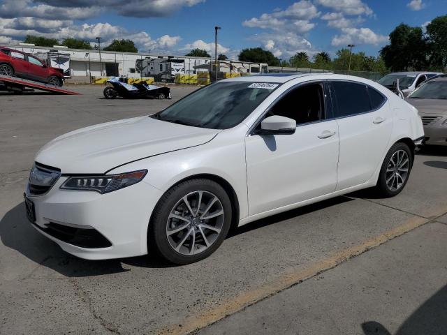
[[361, 244], [351, 246], [340, 251], [335, 251], [335, 253], [332, 253], [328, 258], [310, 263], [304, 268], [301, 267], [300, 269], [297, 269], [297, 271], [283, 274], [276, 278], [274, 281], [266, 283], [260, 288], [243, 292], [240, 295], [233, 297], [232, 299], [225, 299], [221, 302], [221, 304], [219, 304], [219, 306], [207, 309], [207, 311], [205, 311], [204, 313], [201, 313], [199, 315], [191, 315], [183, 320], [182, 327], [179, 327], [179, 325], [168, 325], [167, 327], [163, 327], [159, 329], [159, 334], [188, 334], [195, 331], [196, 329], [206, 327], [207, 325], [217, 322], [218, 320], [221, 320], [228, 315], [234, 314], [237, 311], [240, 311], [243, 308], [256, 303], [257, 301], [265, 299], [270, 295], [274, 295], [275, 293], [286, 288], [290, 288], [291, 286], [305, 281], [306, 279], [309, 279], [316, 274], [321, 273], [322, 271], [332, 269], [340, 263], [349, 260], [349, 258], [360, 255], [361, 253], [364, 253], [371, 248], [380, 246], [390, 239], [399, 237], [406, 232], [409, 232], [420, 227], [421, 225], [424, 225], [425, 223], [432, 221], [433, 219], [430, 220], [427, 218], [415, 216], [406, 221], [404, 224], [383, 232], [382, 234], [373, 237], [372, 239], [368, 239]]

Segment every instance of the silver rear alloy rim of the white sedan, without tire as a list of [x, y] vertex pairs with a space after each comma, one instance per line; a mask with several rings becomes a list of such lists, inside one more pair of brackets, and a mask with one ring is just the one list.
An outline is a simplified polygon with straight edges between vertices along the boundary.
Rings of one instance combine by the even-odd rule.
[[409, 168], [408, 154], [404, 150], [397, 150], [386, 167], [386, 186], [390, 191], [397, 191], [405, 184]]

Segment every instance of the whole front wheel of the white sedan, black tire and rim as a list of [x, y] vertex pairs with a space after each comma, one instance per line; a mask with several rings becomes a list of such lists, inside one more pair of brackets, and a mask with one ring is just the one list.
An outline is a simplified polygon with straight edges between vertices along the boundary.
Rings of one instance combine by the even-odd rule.
[[209, 179], [192, 179], [170, 188], [156, 205], [148, 244], [175, 265], [203, 260], [219, 248], [231, 225], [226, 191]]

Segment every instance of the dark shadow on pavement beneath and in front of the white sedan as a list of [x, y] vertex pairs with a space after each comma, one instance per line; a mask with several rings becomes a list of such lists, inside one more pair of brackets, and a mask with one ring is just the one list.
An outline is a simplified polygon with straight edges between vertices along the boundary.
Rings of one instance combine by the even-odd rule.
[[[353, 199], [337, 197], [263, 218], [241, 228], [236, 228], [228, 234], [227, 238], [351, 200]], [[25, 215], [24, 202], [10, 209], [1, 219], [0, 239], [3, 245], [8, 248], [13, 248], [43, 267], [53, 269], [68, 277], [98, 276], [130, 271], [129, 269], [124, 269], [123, 264], [147, 268], [173, 266], [156, 257], [156, 255], [122, 258], [119, 260], [83, 260], [82, 258], [72, 256], [61, 250], [56, 243], [41, 235], [31, 226]]]

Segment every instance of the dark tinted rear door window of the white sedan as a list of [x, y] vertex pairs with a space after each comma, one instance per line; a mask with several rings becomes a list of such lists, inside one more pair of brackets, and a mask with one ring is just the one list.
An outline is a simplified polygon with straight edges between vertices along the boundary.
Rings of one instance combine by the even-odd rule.
[[338, 106], [338, 111], [335, 110], [335, 117], [348, 117], [371, 110], [365, 84], [332, 82], [332, 88]]

